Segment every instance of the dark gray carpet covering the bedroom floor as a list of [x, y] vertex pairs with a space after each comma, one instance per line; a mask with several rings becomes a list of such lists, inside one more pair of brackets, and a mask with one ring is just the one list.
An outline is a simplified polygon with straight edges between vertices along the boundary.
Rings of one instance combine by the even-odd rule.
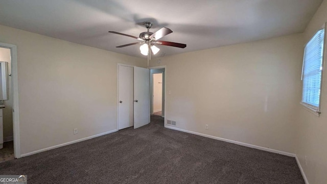
[[28, 183], [304, 183], [293, 157], [144, 127], [0, 163]]

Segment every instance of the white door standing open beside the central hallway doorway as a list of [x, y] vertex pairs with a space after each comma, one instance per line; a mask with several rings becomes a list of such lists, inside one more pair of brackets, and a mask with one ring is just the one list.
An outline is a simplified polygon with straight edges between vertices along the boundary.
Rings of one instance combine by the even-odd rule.
[[150, 122], [150, 70], [134, 66], [134, 129]]

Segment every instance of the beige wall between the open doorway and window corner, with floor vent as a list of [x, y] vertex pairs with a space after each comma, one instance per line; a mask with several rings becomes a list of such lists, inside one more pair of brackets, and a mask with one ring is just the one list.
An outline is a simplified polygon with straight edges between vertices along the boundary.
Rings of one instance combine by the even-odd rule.
[[294, 153], [302, 43], [294, 34], [154, 59], [151, 66], [167, 65], [165, 118], [177, 128]]

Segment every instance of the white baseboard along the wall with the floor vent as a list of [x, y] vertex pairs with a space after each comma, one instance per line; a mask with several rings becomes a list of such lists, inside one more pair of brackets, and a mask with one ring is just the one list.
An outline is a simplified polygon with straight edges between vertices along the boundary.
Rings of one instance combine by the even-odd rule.
[[181, 129], [181, 128], [176, 128], [176, 127], [166, 125], [166, 124], [165, 124], [165, 128], [178, 130], [178, 131], [182, 131], [182, 132], [186, 132], [186, 133], [192, 133], [192, 134], [195, 134], [195, 135], [200, 135], [200, 136], [208, 137], [208, 138], [219, 140], [219, 141], [224, 141], [224, 142], [227, 142], [227, 143], [237, 144], [237, 145], [241, 145], [241, 146], [245, 146], [245, 147], [249, 147], [249, 148], [255, 148], [255, 149], [259, 149], [259, 150], [264, 150], [264, 151], [268, 151], [268, 152], [272, 152], [272, 153], [278, 153], [278, 154], [282, 154], [282, 155], [286, 155], [286, 156], [291, 156], [291, 157], [296, 156], [294, 153], [274, 150], [274, 149], [265, 148], [265, 147], [256, 146], [256, 145], [251, 145], [251, 144], [242, 143], [242, 142], [238, 142], [238, 141], [232, 141], [232, 140], [224, 139], [224, 138], [213, 136], [213, 135], [207, 135], [207, 134], [204, 134], [204, 133], [198, 133], [198, 132], [194, 132], [194, 131], [190, 131], [190, 130], [184, 130], [184, 129]]

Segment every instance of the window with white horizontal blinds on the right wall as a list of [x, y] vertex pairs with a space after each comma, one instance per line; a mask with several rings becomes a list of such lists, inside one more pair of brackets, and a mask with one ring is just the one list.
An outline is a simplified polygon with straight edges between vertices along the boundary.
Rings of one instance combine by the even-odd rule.
[[321, 79], [325, 28], [320, 29], [306, 44], [302, 67], [301, 103], [320, 113]]

